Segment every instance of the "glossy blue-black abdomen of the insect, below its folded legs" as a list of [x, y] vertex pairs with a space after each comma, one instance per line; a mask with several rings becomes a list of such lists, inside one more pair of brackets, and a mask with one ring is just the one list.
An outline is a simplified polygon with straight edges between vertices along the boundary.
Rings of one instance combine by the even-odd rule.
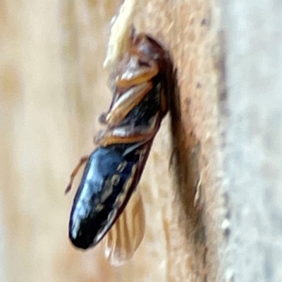
[[[69, 237], [75, 247], [87, 249], [97, 245], [123, 212], [140, 180], [150, 143], [130, 151], [134, 146], [109, 145], [92, 152], [71, 210]], [[130, 187], [125, 191], [125, 184], [130, 178]], [[125, 201], [120, 207], [115, 207], [118, 196], [124, 192]], [[114, 209], [116, 215], [110, 221], [110, 214]], [[106, 225], [109, 226], [103, 231]]]

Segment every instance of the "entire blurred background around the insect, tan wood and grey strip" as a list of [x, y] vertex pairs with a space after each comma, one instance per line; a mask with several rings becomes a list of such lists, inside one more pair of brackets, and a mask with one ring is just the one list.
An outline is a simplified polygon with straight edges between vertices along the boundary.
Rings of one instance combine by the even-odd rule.
[[171, 53], [180, 102], [140, 181], [145, 238], [116, 268], [101, 245], [69, 243], [80, 177], [63, 192], [111, 101], [103, 61], [122, 2], [0, 1], [0, 281], [282, 281], [275, 0], [135, 1], [137, 32]]

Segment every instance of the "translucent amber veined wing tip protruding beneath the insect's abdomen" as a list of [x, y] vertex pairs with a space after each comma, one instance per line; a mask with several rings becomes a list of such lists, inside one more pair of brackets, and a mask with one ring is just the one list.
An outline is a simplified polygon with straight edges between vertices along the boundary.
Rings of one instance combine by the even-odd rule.
[[130, 202], [103, 240], [105, 256], [114, 266], [128, 262], [139, 247], [145, 233], [142, 197], [135, 190]]

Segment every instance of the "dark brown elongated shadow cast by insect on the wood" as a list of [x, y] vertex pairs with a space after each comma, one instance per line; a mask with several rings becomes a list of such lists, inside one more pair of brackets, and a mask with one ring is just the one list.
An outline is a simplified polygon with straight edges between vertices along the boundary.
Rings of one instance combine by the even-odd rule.
[[[183, 123], [177, 71], [173, 73], [174, 90], [169, 97], [171, 114], [171, 169], [176, 182], [176, 204], [180, 206], [178, 223], [184, 229], [196, 257], [204, 251], [206, 234], [203, 221], [199, 158], [201, 145], [195, 135], [187, 133]], [[185, 118], [189, 113], [185, 113]]]

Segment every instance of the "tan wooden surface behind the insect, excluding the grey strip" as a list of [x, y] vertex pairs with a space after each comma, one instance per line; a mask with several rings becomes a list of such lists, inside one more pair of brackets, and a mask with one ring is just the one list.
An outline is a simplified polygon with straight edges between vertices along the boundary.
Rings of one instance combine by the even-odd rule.
[[135, 257], [114, 268], [102, 247], [80, 252], [68, 241], [75, 190], [63, 190], [111, 101], [102, 64], [120, 4], [0, 4], [1, 281], [219, 279], [221, 57], [208, 1], [144, 1], [135, 17], [137, 31], [171, 51], [178, 79], [173, 138], [167, 117], [140, 183], [147, 231]]

